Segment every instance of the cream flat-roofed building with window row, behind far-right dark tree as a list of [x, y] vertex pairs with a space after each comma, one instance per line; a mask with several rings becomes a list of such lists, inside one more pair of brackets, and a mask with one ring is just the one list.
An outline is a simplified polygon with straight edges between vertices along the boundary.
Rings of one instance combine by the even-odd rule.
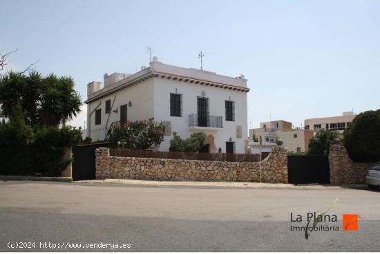
[[354, 112], [343, 112], [342, 116], [332, 116], [323, 118], [310, 118], [305, 120], [305, 129], [310, 129], [317, 132], [321, 129], [330, 129], [332, 131], [338, 131], [339, 136], [343, 136], [343, 131], [354, 120]]

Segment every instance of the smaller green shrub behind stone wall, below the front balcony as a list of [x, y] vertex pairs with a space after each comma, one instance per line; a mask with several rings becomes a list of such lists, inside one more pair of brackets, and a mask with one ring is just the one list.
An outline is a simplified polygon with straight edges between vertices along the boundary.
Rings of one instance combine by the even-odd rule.
[[190, 138], [182, 140], [177, 132], [173, 132], [173, 138], [170, 140], [169, 151], [198, 151], [205, 145], [206, 135], [203, 132], [197, 132], [190, 135]]

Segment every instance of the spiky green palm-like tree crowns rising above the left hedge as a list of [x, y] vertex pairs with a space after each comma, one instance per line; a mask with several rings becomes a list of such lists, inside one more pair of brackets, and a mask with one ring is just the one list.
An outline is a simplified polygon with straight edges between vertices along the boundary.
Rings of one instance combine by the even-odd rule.
[[74, 86], [71, 77], [9, 72], [0, 79], [1, 111], [10, 116], [16, 105], [21, 105], [29, 125], [58, 127], [80, 112], [81, 97]]

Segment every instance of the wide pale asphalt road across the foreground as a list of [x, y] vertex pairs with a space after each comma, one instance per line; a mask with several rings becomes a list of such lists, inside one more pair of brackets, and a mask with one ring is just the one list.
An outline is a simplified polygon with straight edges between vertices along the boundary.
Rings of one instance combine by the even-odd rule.
[[[290, 230], [336, 198], [338, 222], [320, 225], [339, 231]], [[359, 215], [357, 231], [343, 214]], [[367, 189], [0, 182], [0, 251], [379, 251], [379, 238], [380, 192]], [[20, 242], [34, 244], [8, 247]]]

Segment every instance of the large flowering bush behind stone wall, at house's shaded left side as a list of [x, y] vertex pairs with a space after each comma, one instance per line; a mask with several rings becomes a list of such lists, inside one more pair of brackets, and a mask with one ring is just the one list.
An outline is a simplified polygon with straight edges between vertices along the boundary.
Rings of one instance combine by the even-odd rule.
[[129, 149], [152, 149], [164, 140], [165, 126], [155, 123], [153, 118], [127, 122], [125, 125], [108, 131], [107, 140], [110, 147], [124, 147]]

